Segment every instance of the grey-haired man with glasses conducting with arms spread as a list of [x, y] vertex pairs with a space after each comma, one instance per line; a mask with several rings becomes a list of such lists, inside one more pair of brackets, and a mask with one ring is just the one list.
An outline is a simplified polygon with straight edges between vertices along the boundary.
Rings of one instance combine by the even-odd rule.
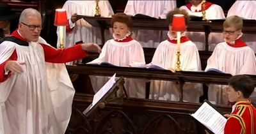
[[57, 50], [40, 37], [41, 30], [40, 13], [28, 8], [17, 31], [0, 44], [0, 133], [65, 133], [74, 87], [60, 63], [100, 52], [94, 43]]

